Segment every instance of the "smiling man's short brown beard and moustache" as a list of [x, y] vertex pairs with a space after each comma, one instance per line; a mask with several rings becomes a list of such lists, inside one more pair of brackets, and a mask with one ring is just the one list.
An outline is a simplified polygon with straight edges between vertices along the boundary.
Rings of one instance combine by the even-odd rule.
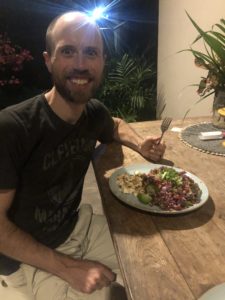
[[[89, 81], [91, 81], [92, 85], [90, 85], [90, 82], [88, 83], [87, 88], [84, 90], [79, 90], [79, 86], [76, 88], [70, 88], [67, 85], [67, 81], [71, 78], [75, 78], [79, 76], [84, 76], [85, 78], [88, 78]], [[101, 76], [102, 77], [102, 76]], [[61, 97], [69, 102], [69, 103], [76, 103], [76, 104], [86, 104], [93, 96], [95, 95], [96, 91], [98, 90], [101, 78], [98, 81], [94, 81], [93, 76], [89, 74], [88, 71], [73, 71], [67, 76], [59, 77], [56, 72], [52, 72], [52, 81], [53, 84], [57, 90], [57, 92], [61, 95]]]

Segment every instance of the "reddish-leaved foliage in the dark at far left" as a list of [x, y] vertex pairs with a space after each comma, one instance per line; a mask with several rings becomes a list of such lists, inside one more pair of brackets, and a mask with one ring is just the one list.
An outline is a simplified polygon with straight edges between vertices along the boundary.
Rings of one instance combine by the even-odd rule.
[[29, 50], [13, 45], [6, 33], [0, 34], [0, 87], [21, 85], [21, 71], [32, 59]]

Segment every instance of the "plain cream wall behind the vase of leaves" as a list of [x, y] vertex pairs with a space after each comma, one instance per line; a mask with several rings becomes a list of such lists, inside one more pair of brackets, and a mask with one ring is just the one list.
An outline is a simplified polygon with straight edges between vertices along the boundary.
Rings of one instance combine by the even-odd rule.
[[[213, 96], [194, 105], [199, 96], [197, 87], [190, 87], [207, 71], [194, 65], [191, 53], [177, 53], [189, 48], [198, 35], [185, 10], [208, 30], [225, 17], [225, 0], [159, 0], [158, 116], [166, 104], [161, 117], [183, 118], [191, 106], [188, 116], [211, 115]], [[202, 43], [193, 47], [203, 50]]]

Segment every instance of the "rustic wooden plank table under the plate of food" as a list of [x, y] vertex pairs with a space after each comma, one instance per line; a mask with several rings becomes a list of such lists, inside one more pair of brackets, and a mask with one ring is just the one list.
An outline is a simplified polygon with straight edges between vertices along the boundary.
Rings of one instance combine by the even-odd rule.
[[[207, 118], [173, 121], [185, 127]], [[160, 133], [160, 121], [133, 123], [139, 134]], [[185, 145], [177, 132], [164, 135], [165, 160], [200, 177], [210, 198], [185, 215], [160, 216], [126, 206], [109, 190], [116, 168], [145, 162], [137, 153], [111, 144], [100, 149], [93, 166], [120, 263], [128, 299], [192, 300], [225, 282], [225, 157]], [[216, 299], [215, 299], [216, 300]]]

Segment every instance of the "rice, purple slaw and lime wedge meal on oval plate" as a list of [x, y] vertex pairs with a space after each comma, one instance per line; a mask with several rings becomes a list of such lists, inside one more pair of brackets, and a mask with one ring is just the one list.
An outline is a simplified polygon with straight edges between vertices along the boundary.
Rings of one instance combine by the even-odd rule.
[[182, 210], [199, 203], [201, 197], [198, 184], [185, 171], [164, 166], [148, 174], [123, 173], [116, 183], [122, 193], [133, 194], [141, 203], [162, 210]]

